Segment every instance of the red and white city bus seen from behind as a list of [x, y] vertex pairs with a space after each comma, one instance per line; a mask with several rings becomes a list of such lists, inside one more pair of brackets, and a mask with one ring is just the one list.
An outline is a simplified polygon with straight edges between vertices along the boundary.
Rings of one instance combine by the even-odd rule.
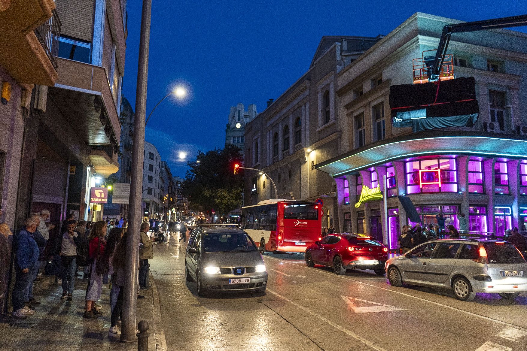
[[304, 252], [321, 239], [321, 208], [308, 201], [260, 201], [241, 209], [240, 224], [261, 252]]

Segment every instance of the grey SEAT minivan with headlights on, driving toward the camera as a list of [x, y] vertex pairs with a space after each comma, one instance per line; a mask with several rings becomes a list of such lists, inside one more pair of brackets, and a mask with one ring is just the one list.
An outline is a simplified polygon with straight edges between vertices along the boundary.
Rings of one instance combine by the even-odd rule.
[[260, 251], [239, 228], [197, 227], [185, 255], [188, 281], [198, 295], [210, 292], [258, 291], [267, 288], [267, 269]]

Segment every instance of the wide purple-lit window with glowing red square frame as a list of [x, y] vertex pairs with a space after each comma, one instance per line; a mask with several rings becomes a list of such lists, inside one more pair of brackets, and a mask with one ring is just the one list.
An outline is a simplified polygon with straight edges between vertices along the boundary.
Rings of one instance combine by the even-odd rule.
[[456, 160], [406, 162], [406, 192], [457, 192]]

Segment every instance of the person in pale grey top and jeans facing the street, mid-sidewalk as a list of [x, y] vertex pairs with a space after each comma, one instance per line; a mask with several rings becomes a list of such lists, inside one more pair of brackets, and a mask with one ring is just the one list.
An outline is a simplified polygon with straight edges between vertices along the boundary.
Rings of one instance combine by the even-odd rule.
[[56, 251], [59, 251], [62, 264], [62, 296], [61, 299], [72, 300], [73, 289], [75, 288], [75, 273], [77, 269], [77, 245], [80, 244], [79, 232], [75, 231], [75, 221], [70, 220], [66, 223], [67, 231], [62, 233], [55, 243]]

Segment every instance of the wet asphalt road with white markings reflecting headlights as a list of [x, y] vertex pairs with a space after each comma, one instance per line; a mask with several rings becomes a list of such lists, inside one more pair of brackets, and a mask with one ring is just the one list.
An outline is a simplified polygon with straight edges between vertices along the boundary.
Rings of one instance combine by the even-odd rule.
[[373, 271], [337, 276], [303, 255], [269, 254], [266, 294], [197, 295], [175, 237], [150, 260], [167, 347], [188, 350], [527, 350], [527, 295], [392, 287]]

